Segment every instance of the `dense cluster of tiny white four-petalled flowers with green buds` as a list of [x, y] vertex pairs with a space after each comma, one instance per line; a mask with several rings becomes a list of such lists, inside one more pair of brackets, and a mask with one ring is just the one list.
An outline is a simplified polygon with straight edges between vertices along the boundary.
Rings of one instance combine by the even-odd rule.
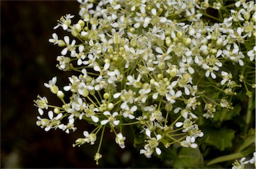
[[[242, 86], [251, 96], [255, 82], [248, 77], [255, 69], [245, 69], [255, 61], [254, 1], [239, 1], [233, 9], [207, 0], [78, 1], [81, 19], [72, 23], [74, 16], [66, 15], [54, 27], [71, 35], [59, 39], [53, 33], [49, 39], [63, 48], [58, 69], [75, 73], [63, 90], [57, 77], [45, 83], [63, 105], [38, 96], [39, 114], [48, 111], [49, 118], [37, 117], [37, 125], [69, 133], [76, 130], [75, 120], [94, 124], [73, 146], [95, 144], [101, 131], [97, 163], [106, 127], [125, 148], [125, 126], [137, 126], [145, 142], [140, 153], [147, 158], [177, 143], [197, 148], [196, 139], [204, 135], [199, 116], [213, 118], [221, 108], [231, 110], [232, 97]], [[213, 17], [208, 7], [226, 13]], [[239, 81], [231, 67], [241, 67]], [[64, 92], [71, 93], [69, 102]]]

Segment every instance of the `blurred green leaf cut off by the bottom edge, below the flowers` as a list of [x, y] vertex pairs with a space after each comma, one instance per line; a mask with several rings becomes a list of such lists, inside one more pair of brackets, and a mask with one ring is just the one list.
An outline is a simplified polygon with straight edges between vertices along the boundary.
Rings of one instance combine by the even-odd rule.
[[174, 168], [202, 168], [203, 157], [199, 148], [182, 147], [173, 166]]

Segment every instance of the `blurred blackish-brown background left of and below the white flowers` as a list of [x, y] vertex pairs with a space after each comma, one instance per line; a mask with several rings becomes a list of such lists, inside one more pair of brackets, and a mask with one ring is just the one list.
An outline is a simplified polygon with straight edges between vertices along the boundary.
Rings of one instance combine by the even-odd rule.
[[[94, 146], [73, 148], [88, 124], [66, 134], [61, 130], [38, 127], [37, 95], [49, 103], [58, 100], [43, 83], [57, 76], [57, 85], [67, 85], [71, 73], [55, 67], [61, 48], [48, 42], [52, 33], [63, 39], [65, 31], [53, 30], [57, 19], [71, 13], [78, 21], [77, 1], [1, 1], [1, 167], [0, 168], [161, 168], [159, 159], [146, 159], [133, 148], [133, 140], [123, 150], [115, 144], [113, 133], [103, 140], [99, 166], [95, 164]], [[129, 136], [129, 135], [128, 135]], [[99, 139], [98, 139], [99, 141]]]

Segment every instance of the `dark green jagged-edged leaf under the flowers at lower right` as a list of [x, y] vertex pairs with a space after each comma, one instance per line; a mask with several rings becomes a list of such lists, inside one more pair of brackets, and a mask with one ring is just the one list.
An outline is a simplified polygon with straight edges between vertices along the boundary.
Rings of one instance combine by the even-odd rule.
[[232, 140], [235, 138], [235, 131], [227, 128], [219, 128], [219, 130], [209, 128], [204, 133], [205, 143], [215, 146], [221, 151], [231, 147]]

